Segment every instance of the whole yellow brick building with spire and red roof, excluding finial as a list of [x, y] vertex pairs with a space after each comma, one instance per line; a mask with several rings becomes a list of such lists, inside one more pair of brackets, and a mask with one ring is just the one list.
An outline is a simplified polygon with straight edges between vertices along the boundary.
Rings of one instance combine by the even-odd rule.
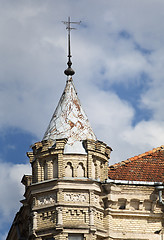
[[164, 147], [108, 166], [68, 76], [7, 240], [163, 240]]

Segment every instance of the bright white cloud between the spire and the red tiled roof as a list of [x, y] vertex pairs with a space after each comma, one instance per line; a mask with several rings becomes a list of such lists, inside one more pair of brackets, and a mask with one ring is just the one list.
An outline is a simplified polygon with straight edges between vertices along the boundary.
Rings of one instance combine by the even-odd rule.
[[143, 120], [133, 126], [133, 107], [115, 94], [93, 91], [83, 102], [98, 139], [113, 149], [110, 164], [163, 144], [164, 122]]

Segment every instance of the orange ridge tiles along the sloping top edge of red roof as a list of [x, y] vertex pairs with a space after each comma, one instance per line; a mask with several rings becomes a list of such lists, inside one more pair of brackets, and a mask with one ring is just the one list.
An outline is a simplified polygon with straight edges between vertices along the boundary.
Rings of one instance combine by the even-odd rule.
[[137, 160], [137, 159], [139, 159], [139, 158], [142, 158], [142, 157], [144, 157], [144, 156], [150, 155], [150, 154], [152, 154], [152, 153], [154, 153], [154, 152], [157, 152], [157, 151], [164, 151], [164, 145], [161, 145], [160, 147], [153, 148], [153, 149], [150, 150], [150, 151], [147, 151], [147, 152], [145, 152], [145, 153], [141, 153], [141, 154], [136, 155], [136, 156], [134, 156], [134, 157], [128, 158], [128, 159], [126, 159], [126, 160], [124, 160], [124, 161], [115, 163], [115, 164], [109, 166], [109, 169], [118, 168], [119, 166], [128, 164], [128, 163], [130, 163], [130, 162], [132, 162], [132, 161], [135, 161], [135, 160]]

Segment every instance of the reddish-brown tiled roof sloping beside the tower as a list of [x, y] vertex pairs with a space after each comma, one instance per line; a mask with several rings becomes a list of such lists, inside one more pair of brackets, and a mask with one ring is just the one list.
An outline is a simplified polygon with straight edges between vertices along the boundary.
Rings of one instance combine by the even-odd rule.
[[164, 182], [164, 145], [109, 166], [113, 180]]

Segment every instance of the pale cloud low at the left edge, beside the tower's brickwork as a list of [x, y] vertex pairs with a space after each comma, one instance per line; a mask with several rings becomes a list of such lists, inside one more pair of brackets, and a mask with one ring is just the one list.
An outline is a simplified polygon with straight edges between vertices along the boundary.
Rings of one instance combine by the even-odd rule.
[[[29, 164], [0, 162], [0, 226], [14, 217], [23, 199], [24, 186], [21, 179], [24, 174], [31, 174]], [[0, 231], [2, 231], [0, 227]]]

